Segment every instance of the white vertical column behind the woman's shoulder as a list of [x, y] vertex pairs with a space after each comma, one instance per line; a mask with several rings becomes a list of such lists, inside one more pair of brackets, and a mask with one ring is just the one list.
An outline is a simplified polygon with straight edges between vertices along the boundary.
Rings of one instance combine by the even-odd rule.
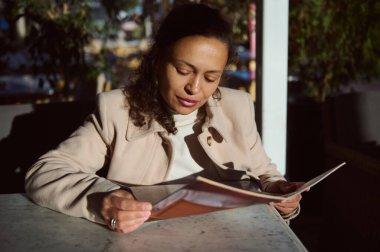
[[281, 173], [286, 171], [288, 0], [263, 0], [262, 138]]

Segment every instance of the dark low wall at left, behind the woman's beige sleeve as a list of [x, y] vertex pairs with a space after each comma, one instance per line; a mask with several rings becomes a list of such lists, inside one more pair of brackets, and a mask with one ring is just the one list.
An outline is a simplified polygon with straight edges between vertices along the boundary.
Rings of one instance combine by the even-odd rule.
[[[32, 112], [7, 117], [8, 135], [0, 140], [0, 193], [24, 192], [26, 170], [36, 159], [67, 138], [94, 108], [93, 102], [32, 105]], [[3, 106], [2, 112], [15, 106]], [[12, 114], [12, 111], [8, 111]]]

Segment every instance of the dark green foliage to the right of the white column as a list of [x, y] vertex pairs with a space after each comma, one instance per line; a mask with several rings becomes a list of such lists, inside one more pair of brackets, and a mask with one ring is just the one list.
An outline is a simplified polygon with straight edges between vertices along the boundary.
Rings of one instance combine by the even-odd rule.
[[380, 76], [380, 2], [291, 0], [289, 74], [318, 102]]

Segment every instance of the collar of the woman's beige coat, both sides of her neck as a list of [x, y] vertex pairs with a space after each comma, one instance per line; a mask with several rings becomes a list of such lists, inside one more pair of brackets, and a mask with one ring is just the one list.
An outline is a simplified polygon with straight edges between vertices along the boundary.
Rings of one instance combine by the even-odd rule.
[[[214, 128], [228, 142], [226, 129], [223, 120], [223, 110], [220, 101], [210, 97], [206, 105], [206, 119], [202, 126], [202, 132], [206, 133], [208, 128]], [[132, 120], [128, 120], [126, 139], [133, 141], [143, 136], [153, 133], [165, 133], [166, 130], [156, 120], [153, 120], [150, 125], [136, 127]]]

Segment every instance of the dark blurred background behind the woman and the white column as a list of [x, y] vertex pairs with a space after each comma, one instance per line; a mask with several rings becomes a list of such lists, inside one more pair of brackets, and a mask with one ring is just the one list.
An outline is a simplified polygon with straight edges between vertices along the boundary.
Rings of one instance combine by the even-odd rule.
[[[24, 192], [27, 168], [128, 85], [175, 0], [0, 0], [0, 193]], [[265, 0], [210, 0], [233, 23], [238, 62], [224, 86], [251, 94], [261, 130]], [[291, 228], [310, 251], [378, 251], [380, 2], [290, 0], [286, 172], [306, 181]], [[263, 139], [265, 142], [265, 139]], [[275, 160], [274, 160], [275, 161]]]

